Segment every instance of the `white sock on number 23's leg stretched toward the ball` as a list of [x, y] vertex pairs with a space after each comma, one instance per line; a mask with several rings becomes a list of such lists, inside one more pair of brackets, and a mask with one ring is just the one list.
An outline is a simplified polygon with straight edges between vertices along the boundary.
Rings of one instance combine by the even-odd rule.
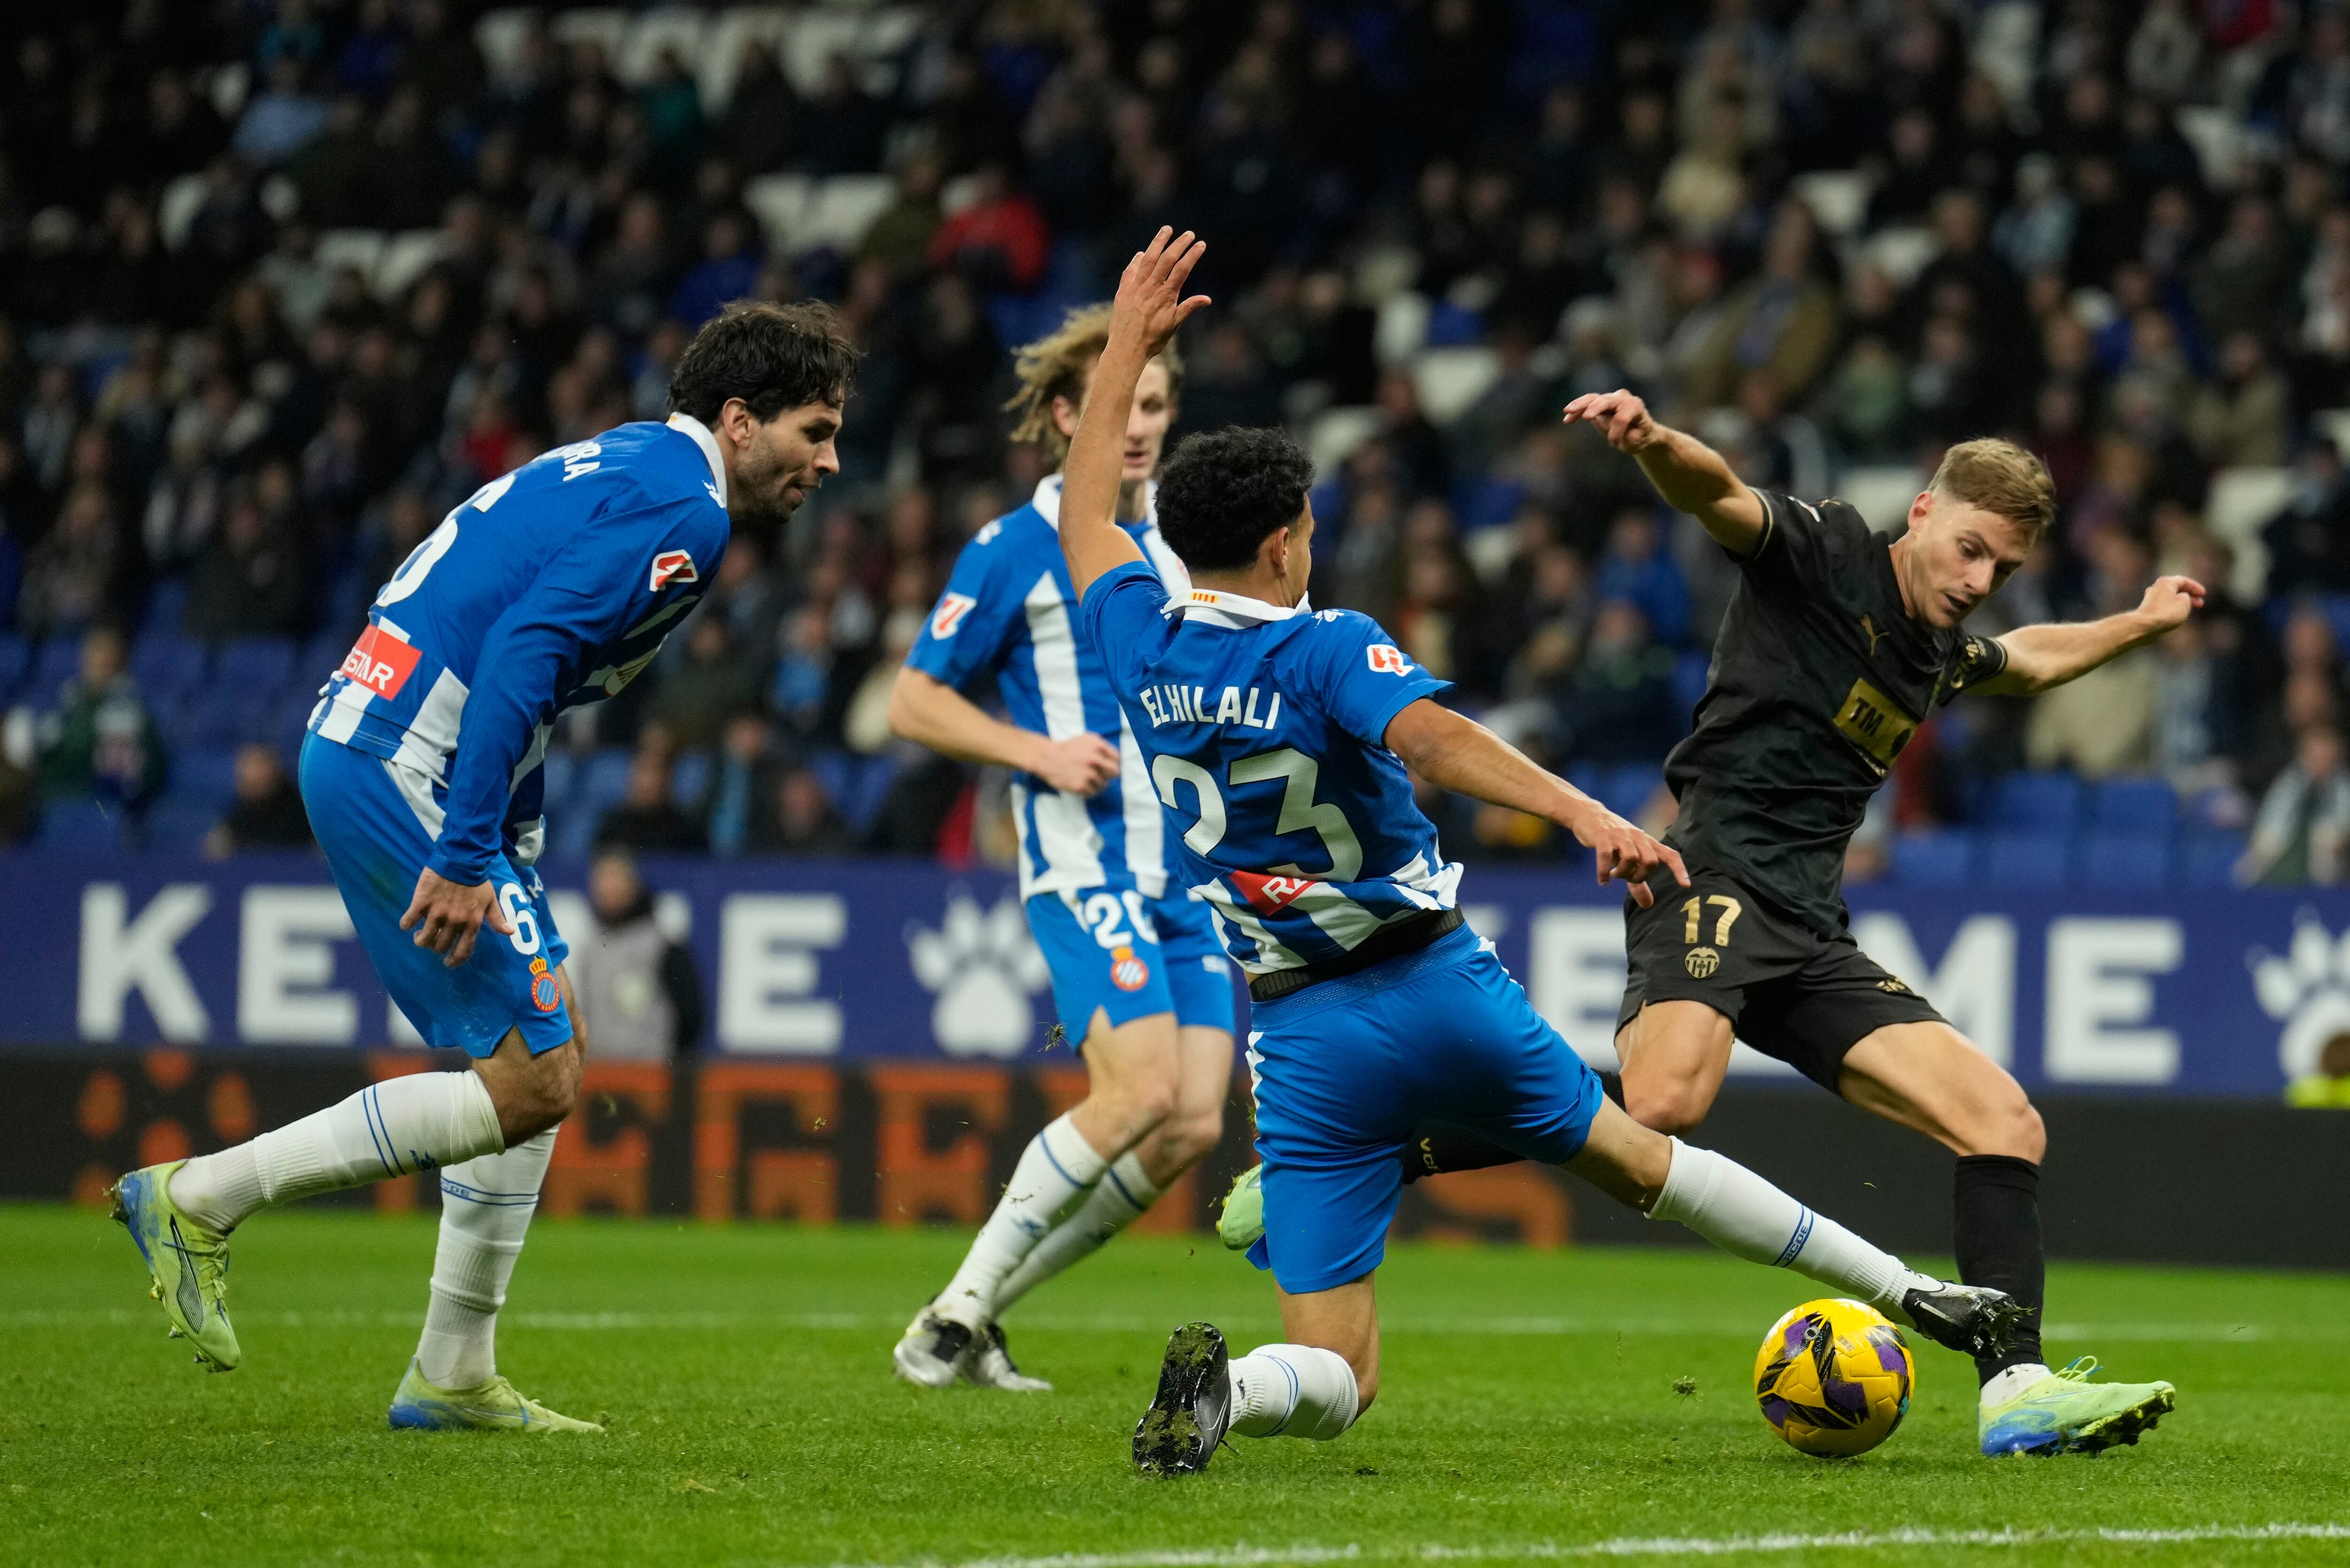
[[1880, 1312], [1899, 1312], [1908, 1291], [1941, 1288], [1932, 1274], [1812, 1213], [1739, 1161], [1680, 1138], [1647, 1218], [1678, 1220], [1732, 1258], [1795, 1269]]

